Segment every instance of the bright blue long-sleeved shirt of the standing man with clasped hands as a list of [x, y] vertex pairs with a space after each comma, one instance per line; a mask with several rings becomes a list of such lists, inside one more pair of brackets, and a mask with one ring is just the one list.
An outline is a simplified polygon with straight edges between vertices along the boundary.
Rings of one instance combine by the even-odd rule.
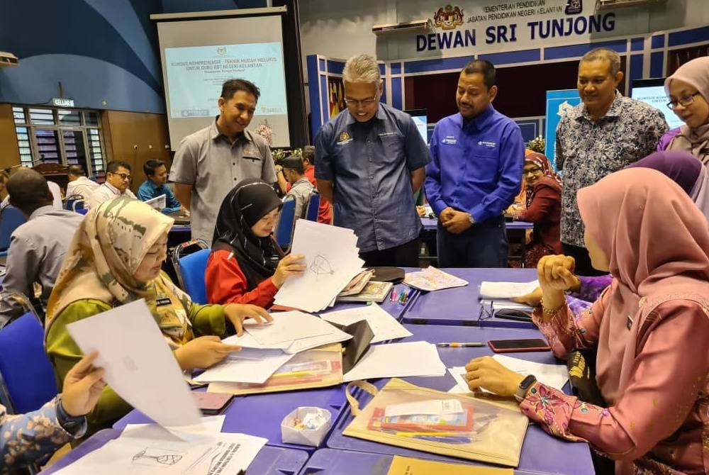
[[525, 144], [519, 126], [493, 106], [469, 121], [442, 118], [430, 140], [424, 187], [437, 215], [450, 206], [476, 223], [500, 216], [522, 184]]

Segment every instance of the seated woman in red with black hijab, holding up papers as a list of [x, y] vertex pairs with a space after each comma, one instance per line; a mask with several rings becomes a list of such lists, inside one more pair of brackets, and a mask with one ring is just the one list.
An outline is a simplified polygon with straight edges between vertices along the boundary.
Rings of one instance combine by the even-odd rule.
[[269, 307], [284, 281], [303, 273], [301, 255], [279, 262], [271, 233], [280, 208], [272, 186], [259, 179], [240, 181], [224, 198], [205, 273], [208, 301]]

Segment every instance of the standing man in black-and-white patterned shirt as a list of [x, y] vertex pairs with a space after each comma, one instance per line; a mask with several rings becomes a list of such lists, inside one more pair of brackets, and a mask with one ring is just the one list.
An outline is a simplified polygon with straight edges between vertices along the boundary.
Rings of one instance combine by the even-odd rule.
[[606, 272], [591, 266], [576, 191], [654, 152], [667, 130], [659, 110], [620, 95], [616, 88], [622, 80], [617, 52], [587, 52], [577, 82], [583, 103], [568, 111], [557, 127], [556, 162], [564, 170], [562, 245], [564, 254], [576, 260], [579, 275]]

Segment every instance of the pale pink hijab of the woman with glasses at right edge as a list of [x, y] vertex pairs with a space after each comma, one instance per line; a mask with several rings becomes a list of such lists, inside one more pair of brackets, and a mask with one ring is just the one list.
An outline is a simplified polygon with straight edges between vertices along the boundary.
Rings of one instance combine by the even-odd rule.
[[[698, 57], [681, 65], [674, 74], [665, 80], [666, 90], [669, 91], [669, 85], [674, 79], [693, 86], [709, 103], [709, 57]], [[708, 155], [702, 152], [707, 147], [709, 147], [709, 122], [693, 129], [682, 125], [680, 133], [669, 143], [668, 150], [690, 152], [700, 160], [705, 160], [704, 164], [709, 166]]]

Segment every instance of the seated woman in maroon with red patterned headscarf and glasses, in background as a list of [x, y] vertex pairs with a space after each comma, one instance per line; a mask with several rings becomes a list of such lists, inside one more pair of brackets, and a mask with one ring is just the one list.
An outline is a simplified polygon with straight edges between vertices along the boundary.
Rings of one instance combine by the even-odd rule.
[[563, 252], [559, 235], [562, 217], [562, 181], [549, 159], [532, 152], [525, 157], [526, 208], [515, 211], [517, 220], [534, 223], [532, 237], [525, 247], [525, 267], [537, 267], [540, 257]]

